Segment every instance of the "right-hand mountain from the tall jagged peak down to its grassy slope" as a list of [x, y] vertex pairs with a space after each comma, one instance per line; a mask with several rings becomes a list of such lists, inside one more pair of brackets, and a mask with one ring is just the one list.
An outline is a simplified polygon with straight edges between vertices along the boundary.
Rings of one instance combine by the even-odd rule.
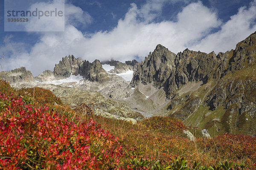
[[157, 45], [138, 65], [131, 85], [164, 88], [170, 99], [167, 114], [186, 125], [208, 129], [212, 135], [256, 135], [256, 32], [235, 50], [217, 56], [188, 49], [173, 57], [167, 54], [171, 52]]

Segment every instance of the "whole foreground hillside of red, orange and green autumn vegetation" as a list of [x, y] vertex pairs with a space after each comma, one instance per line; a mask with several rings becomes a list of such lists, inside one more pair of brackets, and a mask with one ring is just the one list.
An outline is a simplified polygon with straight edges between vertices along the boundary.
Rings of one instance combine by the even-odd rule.
[[0, 80], [0, 169], [256, 169], [255, 136], [199, 132], [172, 117], [132, 125], [94, 116], [86, 104], [72, 110], [49, 90]]

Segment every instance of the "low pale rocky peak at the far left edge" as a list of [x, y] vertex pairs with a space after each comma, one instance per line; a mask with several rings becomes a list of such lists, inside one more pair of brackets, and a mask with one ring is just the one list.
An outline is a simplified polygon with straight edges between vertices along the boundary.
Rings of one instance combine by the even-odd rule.
[[25, 67], [15, 68], [11, 71], [0, 72], [0, 79], [12, 83], [34, 82], [34, 77]]

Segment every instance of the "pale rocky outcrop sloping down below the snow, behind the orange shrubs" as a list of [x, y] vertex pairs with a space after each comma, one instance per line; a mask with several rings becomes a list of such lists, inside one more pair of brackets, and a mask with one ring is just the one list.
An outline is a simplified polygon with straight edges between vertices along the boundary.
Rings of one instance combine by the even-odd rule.
[[93, 110], [98, 109], [102, 113], [116, 115], [116, 118], [119, 117], [121, 119], [123, 117], [135, 120], [144, 119], [142, 114], [129, 108], [125, 103], [103, 96], [100, 92], [61, 87], [51, 84], [41, 84], [39, 87], [51, 90], [64, 104], [69, 105], [71, 108], [76, 108], [78, 104], [86, 103]]

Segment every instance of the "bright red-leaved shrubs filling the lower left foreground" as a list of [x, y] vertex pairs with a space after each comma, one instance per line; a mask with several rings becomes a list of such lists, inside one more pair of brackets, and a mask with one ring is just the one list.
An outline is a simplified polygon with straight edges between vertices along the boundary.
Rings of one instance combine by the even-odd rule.
[[105, 169], [128, 164], [134, 150], [93, 120], [75, 122], [47, 107], [10, 101], [0, 112], [0, 169]]

